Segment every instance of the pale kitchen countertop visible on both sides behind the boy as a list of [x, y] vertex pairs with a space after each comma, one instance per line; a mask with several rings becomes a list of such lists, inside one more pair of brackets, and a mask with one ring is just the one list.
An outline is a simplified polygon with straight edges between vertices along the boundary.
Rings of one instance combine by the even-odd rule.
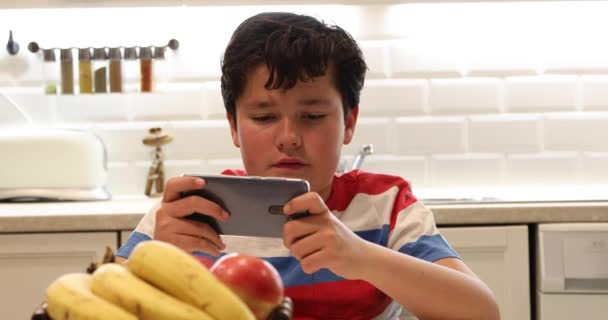
[[[0, 233], [133, 230], [158, 199], [1, 203]], [[608, 222], [608, 201], [440, 203], [439, 226]]]

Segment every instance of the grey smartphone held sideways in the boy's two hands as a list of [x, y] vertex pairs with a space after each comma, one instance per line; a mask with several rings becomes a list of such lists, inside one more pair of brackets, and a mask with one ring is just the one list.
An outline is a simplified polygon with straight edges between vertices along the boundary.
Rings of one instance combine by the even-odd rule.
[[206, 185], [203, 189], [182, 192], [182, 198], [203, 197], [230, 214], [226, 222], [198, 212], [186, 217], [208, 223], [218, 234], [281, 238], [287, 220], [308, 215], [299, 212], [288, 217], [283, 213], [285, 203], [310, 190], [306, 180], [205, 174], [183, 176], [202, 178]]

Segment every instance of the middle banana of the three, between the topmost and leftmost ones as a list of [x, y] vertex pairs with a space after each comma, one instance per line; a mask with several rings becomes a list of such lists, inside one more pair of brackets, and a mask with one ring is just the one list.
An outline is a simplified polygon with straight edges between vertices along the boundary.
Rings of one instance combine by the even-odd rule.
[[153, 287], [116, 263], [95, 270], [91, 290], [140, 320], [213, 320], [202, 310]]

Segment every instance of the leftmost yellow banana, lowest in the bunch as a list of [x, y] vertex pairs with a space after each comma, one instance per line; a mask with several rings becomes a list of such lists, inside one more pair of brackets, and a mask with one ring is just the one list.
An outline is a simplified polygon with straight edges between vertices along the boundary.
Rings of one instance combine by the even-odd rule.
[[92, 276], [68, 273], [46, 289], [47, 313], [53, 320], [137, 320], [91, 291]]

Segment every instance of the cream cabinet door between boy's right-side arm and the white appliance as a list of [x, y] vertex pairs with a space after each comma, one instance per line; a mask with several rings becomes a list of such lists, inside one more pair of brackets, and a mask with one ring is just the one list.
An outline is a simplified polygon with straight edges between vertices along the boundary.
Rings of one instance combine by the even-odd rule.
[[528, 227], [439, 228], [458, 255], [494, 292], [501, 319], [530, 319]]

